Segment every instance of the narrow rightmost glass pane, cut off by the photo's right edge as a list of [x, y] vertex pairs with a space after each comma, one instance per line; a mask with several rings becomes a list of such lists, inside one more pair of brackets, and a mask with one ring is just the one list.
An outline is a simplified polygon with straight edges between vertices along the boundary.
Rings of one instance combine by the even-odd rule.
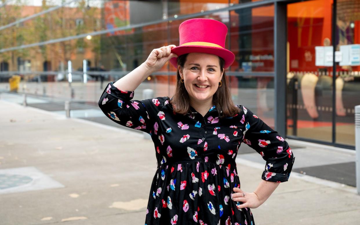
[[355, 146], [355, 110], [360, 105], [360, 1], [337, 1], [336, 142]]

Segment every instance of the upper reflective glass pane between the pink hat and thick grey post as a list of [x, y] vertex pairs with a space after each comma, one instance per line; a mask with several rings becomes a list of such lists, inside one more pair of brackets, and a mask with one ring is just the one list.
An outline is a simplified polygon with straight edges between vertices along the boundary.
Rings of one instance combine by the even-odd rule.
[[274, 71], [274, 6], [230, 11], [231, 71]]

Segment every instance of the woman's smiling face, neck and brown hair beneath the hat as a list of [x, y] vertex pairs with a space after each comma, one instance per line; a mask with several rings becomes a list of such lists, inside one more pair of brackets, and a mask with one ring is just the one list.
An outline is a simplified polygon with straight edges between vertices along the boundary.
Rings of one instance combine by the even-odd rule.
[[231, 100], [224, 64], [224, 59], [213, 54], [191, 52], [180, 55], [177, 58], [176, 88], [171, 100], [175, 112], [184, 115], [189, 112], [190, 105], [201, 115], [206, 113], [209, 105], [215, 105], [223, 116], [239, 112]]

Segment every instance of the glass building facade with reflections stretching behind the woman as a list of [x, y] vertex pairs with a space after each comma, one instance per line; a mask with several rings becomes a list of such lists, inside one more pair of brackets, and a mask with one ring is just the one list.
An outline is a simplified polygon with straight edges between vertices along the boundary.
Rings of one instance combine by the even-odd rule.
[[[283, 136], [354, 149], [360, 0], [3, 0], [0, 90], [20, 75], [20, 93], [96, 105], [108, 81], [153, 49], [179, 45], [179, 24], [190, 18], [228, 26], [235, 104]], [[165, 64], [135, 98], [147, 88], [171, 96], [175, 75]]]

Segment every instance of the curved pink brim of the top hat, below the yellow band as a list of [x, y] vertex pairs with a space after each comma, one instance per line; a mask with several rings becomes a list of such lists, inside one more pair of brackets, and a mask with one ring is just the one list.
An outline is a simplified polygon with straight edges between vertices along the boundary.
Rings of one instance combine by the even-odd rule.
[[[233, 52], [222, 49], [219, 47], [209, 47], [209, 46], [199, 46], [199, 45], [186, 45], [186, 46], [177, 46], [171, 49], [172, 53], [175, 53], [177, 56], [184, 55], [192, 52], [207, 53], [212, 55], [217, 55], [225, 60], [224, 69], [227, 69], [235, 60], [235, 55]], [[177, 69], [177, 57], [173, 57], [170, 60], [170, 63]]]

